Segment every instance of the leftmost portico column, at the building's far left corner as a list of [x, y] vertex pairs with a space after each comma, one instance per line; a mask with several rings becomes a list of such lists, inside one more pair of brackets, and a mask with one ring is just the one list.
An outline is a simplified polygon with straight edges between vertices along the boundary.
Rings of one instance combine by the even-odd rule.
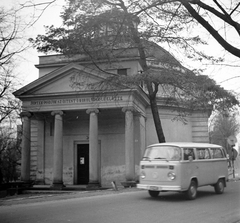
[[21, 181], [30, 182], [30, 151], [31, 151], [31, 113], [22, 112], [22, 157], [21, 157]]

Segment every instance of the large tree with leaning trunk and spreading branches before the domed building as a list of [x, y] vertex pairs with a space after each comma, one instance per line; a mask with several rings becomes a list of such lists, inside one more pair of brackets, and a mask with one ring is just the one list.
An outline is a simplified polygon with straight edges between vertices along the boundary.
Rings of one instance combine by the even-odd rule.
[[[111, 62], [117, 60], [117, 49], [123, 52], [130, 48], [138, 50], [140, 74], [126, 77], [125, 82], [115, 76], [112, 79], [128, 83], [128, 86], [135, 84], [135, 87], [145, 83], [159, 142], [165, 141], [156, 101], [160, 88], [168, 89], [169, 101], [181, 109], [209, 105], [218, 108], [221, 105], [226, 109], [238, 104], [234, 95], [210, 78], [185, 69], [167, 52], [161, 58], [161, 62], [168, 65], [167, 69], [156, 71], [148, 65], [147, 60], [157, 47], [155, 43], [177, 45], [194, 59], [218, 60], [193, 47], [194, 44], [206, 44], [198, 36], [184, 34], [186, 25], [196, 23], [178, 1], [69, 0], [62, 18], [62, 27], [48, 27], [46, 35], [32, 40], [39, 51], [61, 52], [68, 56], [85, 53], [101, 69], [98, 59], [103, 54]], [[152, 50], [149, 52], [149, 49]]]

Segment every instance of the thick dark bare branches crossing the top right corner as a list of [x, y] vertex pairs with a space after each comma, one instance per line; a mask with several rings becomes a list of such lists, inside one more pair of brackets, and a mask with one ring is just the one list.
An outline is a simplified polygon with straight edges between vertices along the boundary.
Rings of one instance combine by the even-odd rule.
[[[223, 3], [218, 0], [182, 0], [179, 2], [225, 50], [238, 58], [240, 57], [238, 40], [234, 42], [232, 38], [235, 34], [238, 39], [240, 36], [240, 23], [237, 19], [239, 16], [239, 1], [226, 1]], [[214, 24], [214, 18], [221, 21], [224, 26], [219, 27], [216, 22]], [[231, 36], [228, 36], [230, 35], [228, 33], [231, 33]]]

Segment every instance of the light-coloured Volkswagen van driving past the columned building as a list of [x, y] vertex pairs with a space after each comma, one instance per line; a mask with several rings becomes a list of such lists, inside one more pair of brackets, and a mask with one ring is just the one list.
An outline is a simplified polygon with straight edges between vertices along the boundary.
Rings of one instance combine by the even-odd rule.
[[147, 147], [140, 162], [137, 188], [149, 191], [152, 197], [163, 191], [185, 192], [195, 199], [197, 188], [214, 186], [224, 192], [228, 180], [225, 150], [208, 143], [159, 143]]

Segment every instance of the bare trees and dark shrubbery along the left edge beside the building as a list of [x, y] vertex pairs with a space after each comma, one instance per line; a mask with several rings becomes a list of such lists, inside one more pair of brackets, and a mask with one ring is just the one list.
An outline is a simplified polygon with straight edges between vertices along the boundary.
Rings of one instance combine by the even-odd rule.
[[27, 27], [18, 10], [0, 8], [0, 183], [17, 179], [20, 158], [17, 123], [21, 103], [12, 92], [21, 86], [17, 61], [30, 47], [25, 38]]

